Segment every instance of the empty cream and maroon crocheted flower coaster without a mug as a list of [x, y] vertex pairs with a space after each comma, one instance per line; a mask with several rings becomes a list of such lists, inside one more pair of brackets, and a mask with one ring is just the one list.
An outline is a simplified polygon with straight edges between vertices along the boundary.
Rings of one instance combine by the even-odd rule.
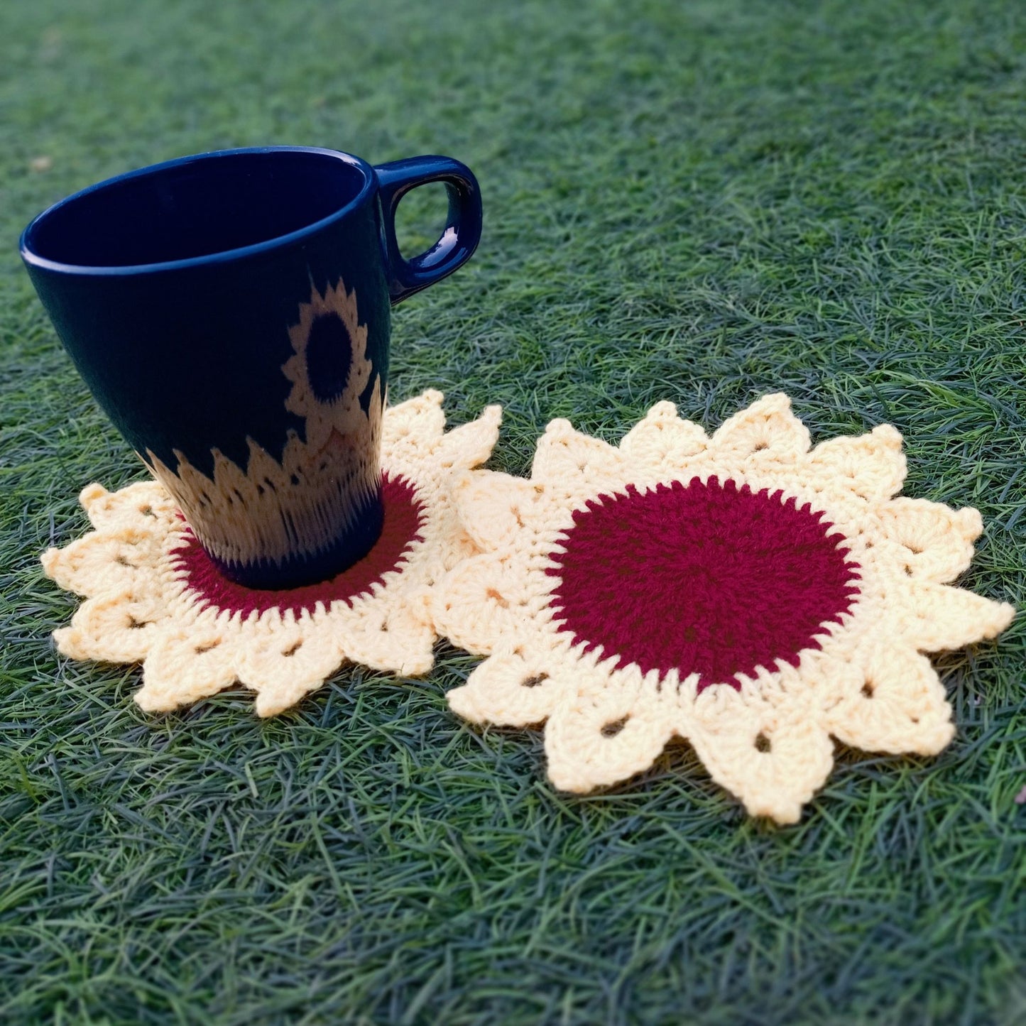
[[457, 486], [482, 550], [435, 593], [439, 631], [487, 655], [460, 715], [547, 720], [548, 773], [585, 792], [647, 767], [672, 735], [752, 815], [795, 822], [831, 736], [934, 754], [953, 727], [921, 655], [990, 638], [1013, 608], [944, 582], [974, 509], [894, 497], [892, 427], [810, 449], [784, 395], [712, 437], [661, 402], [619, 447], [553, 421], [529, 480]]

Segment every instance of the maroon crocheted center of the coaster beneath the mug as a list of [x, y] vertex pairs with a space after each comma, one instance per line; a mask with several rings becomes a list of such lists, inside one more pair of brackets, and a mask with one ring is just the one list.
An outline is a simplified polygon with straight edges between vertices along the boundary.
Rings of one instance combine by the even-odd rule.
[[186, 531], [171, 555], [177, 568], [186, 571], [186, 586], [204, 604], [241, 613], [243, 617], [273, 608], [299, 614], [313, 610], [318, 602], [328, 606], [339, 599], [352, 604], [352, 599], [369, 591], [386, 570], [398, 569], [409, 546], [422, 538], [422, 506], [412, 484], [405, 478], [385, 474], [382, 500], [385, 522], [374, 547], [348, 570], [320, 584], [282, 591], [244, 588], [222, 575], [191, 530]]

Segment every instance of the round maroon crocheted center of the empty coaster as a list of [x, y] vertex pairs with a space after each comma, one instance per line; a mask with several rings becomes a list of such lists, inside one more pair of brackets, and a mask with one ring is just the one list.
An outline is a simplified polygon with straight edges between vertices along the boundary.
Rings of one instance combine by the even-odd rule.
[[738, 673], [797, 666], [855, 601], [859, 564], [832, 526], [808, 504], [732, 480], [630, 485], [574, 514], [547, 571], [560, 579], [556, 621], [620, 667], [740, 689]]

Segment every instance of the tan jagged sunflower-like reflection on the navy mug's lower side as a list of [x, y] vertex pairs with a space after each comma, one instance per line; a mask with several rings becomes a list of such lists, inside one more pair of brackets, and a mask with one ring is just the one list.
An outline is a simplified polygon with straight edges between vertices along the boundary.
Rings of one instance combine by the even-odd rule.
[[246, 439], [245, 469], [214, 448], [212, 477], [184, 452], [175, 450], [174, 470], [147, 452], [154, 475], [223, 564], [314, 555], [378, 495], [384, 396], [367, 358], [355, 290], [347, 292], [339, 281], [322, 295], [312, 285], [288, 337], [293, 353], [281, 368], [291, 382], [285, 408], [305, 420], [306, 438], [289, 431], [280, 462], [252, 438]]

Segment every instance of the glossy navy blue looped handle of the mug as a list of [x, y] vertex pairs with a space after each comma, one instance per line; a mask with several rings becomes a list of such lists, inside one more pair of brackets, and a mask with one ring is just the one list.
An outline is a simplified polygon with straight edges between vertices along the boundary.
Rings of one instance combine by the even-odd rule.
[[[465, 264], [481, 238], [481, 193], [465, 164], [449, 157], [409, 157], [374, 167], [382, 201], [386, 276], [392, 306], [451, 274]], [[438, 241], [419, 256], [405, 260], [395, 238], [395, 211], [403, 196], [429, 182], [443, 182], [449, 212]]]

